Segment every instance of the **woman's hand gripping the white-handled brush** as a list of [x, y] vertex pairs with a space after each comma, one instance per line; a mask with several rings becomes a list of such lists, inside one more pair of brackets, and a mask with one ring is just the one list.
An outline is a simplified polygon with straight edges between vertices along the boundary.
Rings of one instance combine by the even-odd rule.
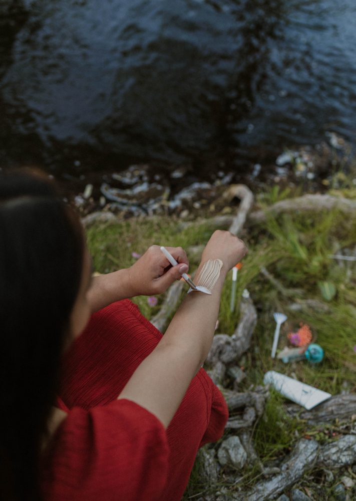
[[128, 269], [132, 296], [161, 294], [189, 269], [189, 261], [182, 247], [166, 247], [178, 262], [173, 266], [158, 245], [152, 245], [147, 252]]

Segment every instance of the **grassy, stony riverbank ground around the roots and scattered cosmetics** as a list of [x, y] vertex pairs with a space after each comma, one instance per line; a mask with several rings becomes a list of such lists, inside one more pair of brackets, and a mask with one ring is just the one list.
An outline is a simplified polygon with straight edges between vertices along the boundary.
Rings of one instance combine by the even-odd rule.
[[[253, 170], [245, 174], [244, 180], [254, 194], [251, 213], [263, 209], [267, 217], [262, 222], [247, 218], [239, 234], [246, 242], [249, 253], [238, 272], [237, 299], [232, 312], [231, 272], [226, 279], [216, 334], [233, 335], [243, 315], [240, 305], [247, 301], [243, 299], [246, 290], [257, 312], [257, 324], [249, 348], [233, 363], [227, 364], [227, 370], [220, 374], [217, 384], [225, 391], [228, 401], [232, 402], [237, 392], [249, 395], [248, 398], [255, 399], [255, 402], [261, 401], [262, 407], [246, 404], [246, 400], [243, 405], [230, 408], [230, 419], [246, 419], [246, 429], [227, 428], [219, 443], [209, 444], [198, 454], [184, 500], [246, 498], [257, 501], [276, 498], [282, 491], [287, 496], [281, 498], [284, 501], [351, 500], [356, 496], [356, 445], [348, 447], [351, 451], [354, 449], [354, 454], [352, 452], [353, 455], [341, 464], [333, 464], [332, 461], [326, 464], [319, 459], [308, 463], [305, 459], [306, 466], [297, 478], [285, 468], [283, 470], [283, 464], [288, 462], [293, 451], [304, 447], [305, 443], [311, 444], [313, 450], [317, 446], [317, 450], [323, 451], [326, 450], [323, 447], [330, 444], [339, 446], [340, 440], [347, 438], [345, 435], [356, 438], [356, 261], [352, 260], [356, 257], [356, 161], [347, 145], [338, 143], [338, 138], [333, 140], [334, 146], [325, 143], [319, 150], [299, 148], [281, 152], [279, 160], [269, 168], [263, 170], [254, 164], [251, 167], [255, 169], [255, 174]], [[145, 175], [137, 166], [125, 175], [128, 173], [136, 177]], [[130, 267], [150, 245], [158, 244], [185, 248], [190, 260], [190, 273], [193, 273], [199, 264], [202, 249], [217, 224], [227, 229], [228, 216], [233, 216], [238, 208], [239, 200], [227, 199], [223, 195], [232, 181], [232, 178], [227, 178], [226, 182], [228, 174], [226, 171], [217, 174], [215, 181], [210, 180], [210, 186], [192, 190], [194, 194], [190, 199], [177, 198], [183, 188], [175, 188], [166, 198], [158, 200], [156, 208], [148, 214], [145, 214], [145, 204], [149, 201], [130, 205], [107, 198], [99, 212], [98, 198], [100, 201], [99, 195], [104, 196], [103, 193], [91, 195], [93, 200], [90, 201], [91, 197], [88, 200], [83, 198], [82, 191], [77, 196], [83, 201], [75, 203], [86, 225], [95, 272], [109, 273]], [[186, 173], [181, 177], [176, 175], [171, 179], [184, 179]], [[265, 176], [263, 181], [262, 176]], [[213, 185], [217, 180], [220, 183]], [[198, 181], [202, 182], [195, 182]], [[151, 180], [141, 179], [140, 182], [141, 185], [144, 182], [150, 184]], [[111, 182], [106, 184], [113, 187]], [[127, 187], [128, 183], [124, 183], [119, 189]], [[108, 187], [105, 189], [119, 198], [125, 195], [110, 192]], [[294, 210], [273, 215], [268, 210], [278, 201], [317, 192], [348, 200], [350, 211], [345, 215], [344, 211], [334, 206], [331, 210]], [[176, 205], [170, 205], [171, 201], [175, 201]], [[90, 203], [93, 207], [95, 205], [91, 211], [88, 210]], [[126, 208], [112, 205], [115, 203], [126, 205]], [[187, 289], [183, 285], [183, 291], [177, 293], [179, 298], [168, 314], [167, 323]], [[133, 301], [139, 305], [143, 315], [153, 320], [167, 301], [167, 296], [168, 293], [157, 296], [157, 304], [148, 301], [147, 297], [134, 298]], [[281, 326], [277, 354], [284, 347], [291, 347], [288, 334], [307, 324], [312, 342], [324, 351], [322, 362], [310, 364], [306, 360], [298, 360], [283, 363], [281, 359], [271, 358], [276, 325], [274, 312], [287, 316]], [[208, 371], [214, 369], [207, 363], [205, 368]], [[288, 375], [333, 396], [350, 399], [347, 404], [349, 415], [342, 418], [329, 415], [325, 421], [305, 416], [302, 407], [291, 406], [290, 401], [271, 388], [267, 392], [263, 389], [263, 377], [269, 370]], [[255, 409], [255, 413], [250, 419], [251, 408]], [[243, 432], [249, 437], [247, 442]], [[219, 452], [221, 443], [236, 436], [240, 437], [247, 455], [242, 466], [236, 462], [224, 463]], [[339, 457], [340, 453], [334, 455]], [[290, 480], [283, 483], [283, 477], [282, 491], [265, 497], [263, 482], [267, 485], [279, 478], [278, 475], [281, 478], [289, 475]], [[266, 493], [269, 492], [267, 487]], [[255, 493], [254, 488], [257, 489]], [[300, 494], [295, 492], [298, 489]], [[304, 497], [297, 497], [302, 494]]]

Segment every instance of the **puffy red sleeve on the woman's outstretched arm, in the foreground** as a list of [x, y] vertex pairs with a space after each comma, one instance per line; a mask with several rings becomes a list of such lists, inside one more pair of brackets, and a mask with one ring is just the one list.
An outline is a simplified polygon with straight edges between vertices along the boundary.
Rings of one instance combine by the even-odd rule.
[[46, 501], [154, 501], [166, 483], [166, 431], [130, 400], [74, 407], [43, 459]]

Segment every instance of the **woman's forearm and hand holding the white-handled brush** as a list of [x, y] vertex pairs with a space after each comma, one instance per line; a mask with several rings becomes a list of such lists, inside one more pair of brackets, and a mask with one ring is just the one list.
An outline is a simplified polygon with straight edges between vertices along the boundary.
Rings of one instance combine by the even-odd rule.
[[94, 277], [88, 300], [91, 312], [102, 310], [115, 301], [135, 296], [162, 294], [189, 269], [182, 247], [167, 247], [178, 265], [172, 267], [158, 245], [152, 245], [131, 267]]

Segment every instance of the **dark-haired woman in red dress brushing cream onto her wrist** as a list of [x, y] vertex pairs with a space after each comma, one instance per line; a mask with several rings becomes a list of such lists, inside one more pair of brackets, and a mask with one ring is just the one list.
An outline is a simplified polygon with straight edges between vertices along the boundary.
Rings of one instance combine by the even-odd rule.
[[169, 250], [175, 267], [153, 246], [92, 279], [80, 222], [53, 184], [0, 177], [1, 499], [179, 501], [198, 447], [226, 423], [201, 366], [247, 249], [212, 235], [198, 269], [221, 260], [212, 294], [188, 294], [162, 336], [127, 298], [188, 270], [184, 250]]

